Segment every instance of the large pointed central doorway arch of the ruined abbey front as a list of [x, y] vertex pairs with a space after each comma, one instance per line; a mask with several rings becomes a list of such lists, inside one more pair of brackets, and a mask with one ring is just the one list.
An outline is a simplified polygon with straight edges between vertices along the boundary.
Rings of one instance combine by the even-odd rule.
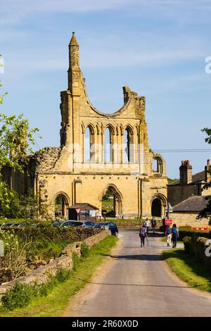
[[[122, 200], [123, 196], [119, 189], [113, 184], [110, 184], [106, 187], [106, 189], [103, 191], [103, 194], [101, 196], [101, 202], [103, 199], [103, 196], [108, 194], [108, 196], [113, 196], [113, 213], [111, 213], [111, 217], [117, 217], [122, 218]], [[101, 208], [102, 209], [102, 208]], [[108, 214], [109, 216], [109, 214]]]

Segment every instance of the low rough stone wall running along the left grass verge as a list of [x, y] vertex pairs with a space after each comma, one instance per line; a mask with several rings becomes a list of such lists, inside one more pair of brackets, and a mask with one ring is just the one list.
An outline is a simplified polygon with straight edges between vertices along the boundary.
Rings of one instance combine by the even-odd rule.
[[1, 296], [3, 296], [8, 289], [11, 289], [15, 282], [20, 282], [23, 284], [33, 285], [35, 282], [37, 284], [42, 284], [47, 282], [49, 279], [49, 275], [56, 275], [58, 268], [65, 268], [68, 270], [72, 270], [73, 262], [72, 262], [72, 253], [76, 252], [78, 256], [81, 255], [81, 246], [83, 243], [86, 243], [89, 246], [94, 246], [98, 242], [101, 242], [104, 238], [110, 235], [110, 231], [103, 230], [102, 232], [93, 235], [87, 239], [84, 239], [82, 242], [75, 242], [74, 244], [68, 245], [65, 249], [63, 249], [63, 256], [60, 258], [56, 258], [52, 262], [49, 262], [46, 266], [41, 266], [31, 273], [27, 273], [27, 275], [23, 277], [19, 277], [15, 280], [11, 280], [11, 282], [5, 282], [0, 286], [0, 305], [1, 305]]

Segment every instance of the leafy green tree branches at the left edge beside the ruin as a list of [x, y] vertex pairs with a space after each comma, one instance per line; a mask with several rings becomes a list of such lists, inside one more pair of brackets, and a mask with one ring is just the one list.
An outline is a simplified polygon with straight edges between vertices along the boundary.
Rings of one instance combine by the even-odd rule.
[[[2, 86], [0, 82], [0, 87]], [[7, 93], [0, 93], [0, 104]], [[33, 154], [34, 133], [39, 129], [29, 128], [29, 122], [20, 115], [0, 113], [0, 216], [18, 217], [18, 194], [10, 189], [2, 177], [4, 167], [16, 168], [20, 172], [25, 169], [27, 154]]]

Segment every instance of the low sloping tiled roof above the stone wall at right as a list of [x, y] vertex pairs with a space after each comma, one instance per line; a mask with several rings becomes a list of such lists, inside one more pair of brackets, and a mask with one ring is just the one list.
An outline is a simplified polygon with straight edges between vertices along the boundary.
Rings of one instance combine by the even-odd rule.
[[207, 206], [205, 196], [194, 195], [173, 206], [173, 212], [177, 211], [202, 211]]

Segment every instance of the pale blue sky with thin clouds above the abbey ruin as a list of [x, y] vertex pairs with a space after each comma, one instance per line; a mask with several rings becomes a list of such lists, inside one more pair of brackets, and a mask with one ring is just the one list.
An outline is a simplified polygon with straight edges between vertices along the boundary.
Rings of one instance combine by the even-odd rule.
[[[37, 149], [59, 146], [72, 31], [96, 108], [113, 113], [129, 86], [146, 96], [153, 150], [209, 149], [200, 129], [211, 126], [210, 0], [0, 1], [0, 79], [9, 93], [1, 113], [24, 113], [39, 127]], [[196, 173], [210, 154], [162, 155], [167, 174], [178, 177], [182, 159], [190, 159]]]

